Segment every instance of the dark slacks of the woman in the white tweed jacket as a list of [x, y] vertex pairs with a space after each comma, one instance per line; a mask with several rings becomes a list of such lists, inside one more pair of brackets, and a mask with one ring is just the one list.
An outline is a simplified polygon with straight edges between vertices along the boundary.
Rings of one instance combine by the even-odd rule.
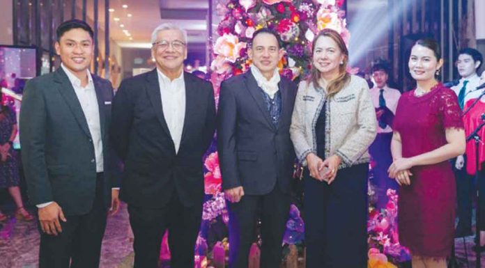
[[367, 174], [369, 164], [338, 171], [332, 184], [305, 168], [307, 268], [367, 267]]

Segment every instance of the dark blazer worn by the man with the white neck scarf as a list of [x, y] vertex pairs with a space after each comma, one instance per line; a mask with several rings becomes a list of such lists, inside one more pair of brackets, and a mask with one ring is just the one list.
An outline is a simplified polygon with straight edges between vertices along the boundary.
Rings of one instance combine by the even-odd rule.
[[217, 150], [224, 189], [242, 186], [245, 194], [262, 195], [278, 182], [284, 193], [291, 190], [295, 152], [289, 129], [296, 85], [282, 77], [278, 86], [282, 111], [275, 127], [250, 71], [222, 82]]

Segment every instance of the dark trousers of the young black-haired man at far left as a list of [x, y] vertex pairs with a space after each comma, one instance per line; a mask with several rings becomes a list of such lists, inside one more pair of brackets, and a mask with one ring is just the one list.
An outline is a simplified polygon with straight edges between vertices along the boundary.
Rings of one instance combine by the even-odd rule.
[[66, 216], [67, 221], [61, 221], [62, 232], [57, 236], [40, 230], [40, 268], [99, 267], [107, 218], [104, 183], [102, 173], [98, 173], [93, 208], [88, 214]]

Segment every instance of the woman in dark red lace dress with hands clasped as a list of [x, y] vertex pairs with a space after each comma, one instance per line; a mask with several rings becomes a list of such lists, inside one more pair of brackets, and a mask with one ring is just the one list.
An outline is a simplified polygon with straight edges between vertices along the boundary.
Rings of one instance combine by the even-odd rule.
[[465, 132], [456, 95], [436, 80], [440, 45], [418, 40], [409, 58], [417, 82], [404, 93], [394, 118], [390, 178], [399, 188], [399, 239], [413, 255], [413, 268], [446, 267], [452, 252], [455, 179], [447, 161], [465, 152]]

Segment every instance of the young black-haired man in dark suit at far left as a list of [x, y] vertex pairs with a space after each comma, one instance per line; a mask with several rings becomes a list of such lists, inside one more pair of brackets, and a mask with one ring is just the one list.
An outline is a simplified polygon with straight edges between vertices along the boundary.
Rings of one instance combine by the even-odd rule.
[[93, 30], [72, 19], [57, 28], [61, 68], [26, 84], [22, 161], [38, 207], [41, 268], [98, 267], [107, 207], [118, 210], [108, 126], [111, 83], [88, 71]]

